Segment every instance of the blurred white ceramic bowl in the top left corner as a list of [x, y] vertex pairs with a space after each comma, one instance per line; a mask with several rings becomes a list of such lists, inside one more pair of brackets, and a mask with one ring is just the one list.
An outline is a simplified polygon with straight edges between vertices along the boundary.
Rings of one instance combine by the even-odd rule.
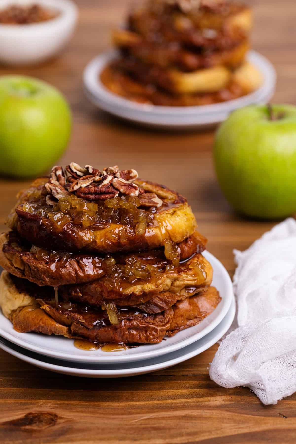
[[42, 23], [0, 24], [1, 63], [39, 63], [57, 54], [70, 39], [78, 16], [78, 8], [71, 0], [1, 0], [0, 9], [32, 3], [54, 10], [58, 15]]

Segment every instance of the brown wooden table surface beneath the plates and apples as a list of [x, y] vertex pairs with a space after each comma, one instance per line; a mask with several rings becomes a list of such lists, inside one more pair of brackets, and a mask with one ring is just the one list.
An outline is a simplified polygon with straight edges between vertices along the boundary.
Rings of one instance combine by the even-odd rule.
[[[184, 194], [199, 230], [209, 238], [209, 251], [232, 276], [233, 248], [244, 250], [274, 223], [233, 214], [213, 171], [213, 132], [150, 131], [112, 119], [87, 102], [83, 67], [108, 48], [110, 29], [122, 20], [128, 2], [78, 3], [79, 26], [58, 59], [36, 67], [1, 68], [0, 74], [36, 76], [66, 95], [73, 111], [73, 132], [61, 164], [118, 163]], [[296, 103], [294, 1], [261, 0], [253, 1], [253, 6], [253, 47], [275, 64], [278, 73], [274, 100]], [[24, 184], [0, 180], [1, 230]], [[295, 443], [296, 395], [264, 407], [247, 388], [217, 386], [209, 379], [216, 350], [214, 345], [156, 373], [102, 380], [43, 371], [0, 350], [0, 442]]]

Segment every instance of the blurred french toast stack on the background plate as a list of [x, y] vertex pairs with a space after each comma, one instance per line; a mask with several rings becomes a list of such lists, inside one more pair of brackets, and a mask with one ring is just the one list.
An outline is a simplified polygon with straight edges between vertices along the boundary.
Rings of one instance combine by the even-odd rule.
[[113, 32], [120, 57], [102, 74], [115, 94], [140, 103], [190, 106], [235, 99], [262, 75], [246, 60], [252, 13], [219, 0], [148, 0]]

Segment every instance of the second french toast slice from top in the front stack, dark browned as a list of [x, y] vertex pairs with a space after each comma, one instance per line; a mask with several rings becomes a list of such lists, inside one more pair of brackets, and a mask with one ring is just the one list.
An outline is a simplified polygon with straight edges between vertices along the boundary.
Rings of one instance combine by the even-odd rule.
[[[207, 239], [195, 232], [178, 244], [180, 260], [184, 261], [196, 252], [205, 250]], [[130, 255], [114, 255], [115, 261], [125, 263]], [[147, 251], [145, 255], [136, 256], [155, 258], [155, 261], [169, 265], [163, 250]], [[153, 260], [153, 259], [152, 259]], [[150, 261], [151, 262], [151, 261]], [[81, 284], [100, 279], [106, 274], [103, 256], [75, 254], [42, 250], [28, 242], [22, 241], [19, 235], [10, 231], [0, 235], [0, 266], [9, 273], [24, 277], [38, 285]]]

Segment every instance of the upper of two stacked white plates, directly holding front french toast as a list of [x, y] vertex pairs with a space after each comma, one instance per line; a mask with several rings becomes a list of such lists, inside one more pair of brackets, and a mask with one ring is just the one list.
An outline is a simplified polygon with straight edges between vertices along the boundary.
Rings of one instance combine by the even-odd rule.
[[12, 327], [12, 323], [4, 317], [1, 311], [0, 336], [20, 347], [31, 350], [32, 352], [68, 361], [84, 363], [139, 361], [181, 349], [186, 345], [198, 341], [201, 337], [204, 337], [213, 330], [225, 317], [233, 299], [232, 282], [224, 266], [208, 251], [205, 251], [203, 254], [213, 267], [212, 285], [219, 290], [222, 300], [213, 313], [205, 318], [200, 324], [185, 329], [173, 337], [166, 338], [166, 341], [162, 341], [160, 344], [140, 345], [135, 348], [112, 353], [103, 352], [101, 349], [94, 351], [80, 350], [74, 346], [73, 340], [65, 337], [16, 332]]

